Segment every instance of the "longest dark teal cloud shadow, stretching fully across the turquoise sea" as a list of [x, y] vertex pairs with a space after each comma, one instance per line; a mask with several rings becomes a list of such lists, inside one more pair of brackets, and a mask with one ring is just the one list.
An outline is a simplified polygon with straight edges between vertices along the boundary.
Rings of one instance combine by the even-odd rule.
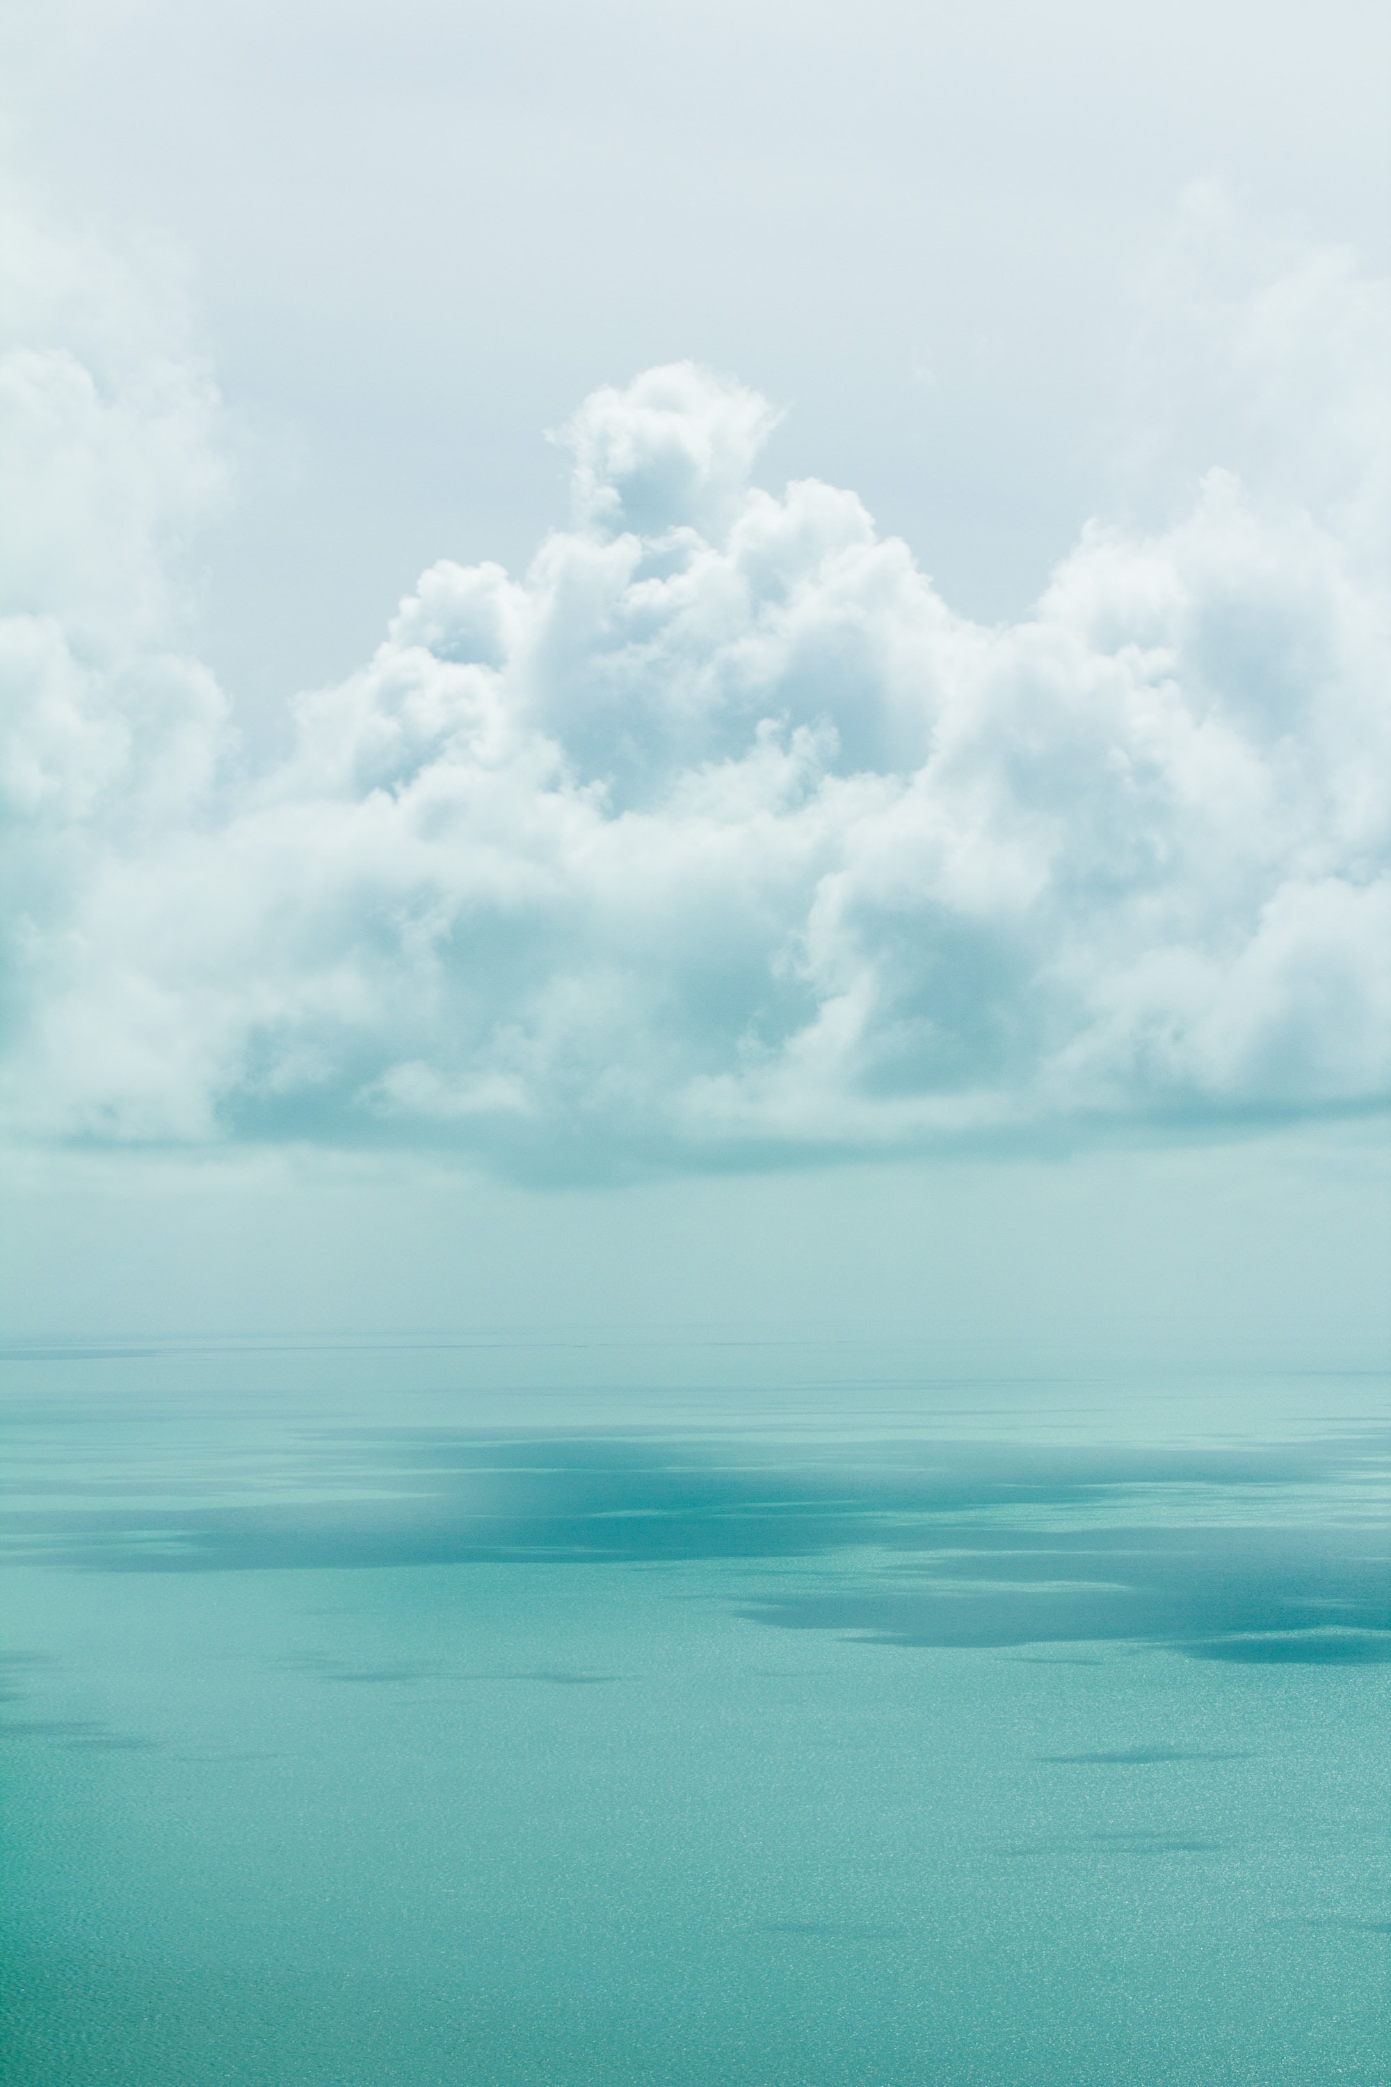
[[[317, 1459], [317, 1467], [315, 1467]], [[807, 1557], [847, 1546], [920, 1551], [961, 1517], [991, 1515], [966, 1549], [1028, 1572], [1020, 1532], [1059, 1511], [1116, 1513], [1176, 1488], [1251, 1492], [1364, 1469], [1349, 1448], [1153, 1450], [1018, 1444], [801, 1448], [669, 1432], [528, 1434], [352, 1430], [292, 1444], [294, 1501], [215, 1507], [42, 1509], [19, 1538], [65, 1538], [69, 1563], [133, 1572], [236, 1572], [469, 1561]], [[363, 1494], [359, 1488], [371, 1484]], [[304, 1492], [317, 1496], [304, 1498]], [[150, 1549], [163, 1540], [165, 1549]], [[1145, 1534], [1137, 1542], [1145, 1542]], [[955, 1538], [957, 1549], [961, 1540]], [[1074, 1542], [1078, 1555], [1087, 1544]], [[1097, 1557], [1114, 1553], [1103, 1534]]]

